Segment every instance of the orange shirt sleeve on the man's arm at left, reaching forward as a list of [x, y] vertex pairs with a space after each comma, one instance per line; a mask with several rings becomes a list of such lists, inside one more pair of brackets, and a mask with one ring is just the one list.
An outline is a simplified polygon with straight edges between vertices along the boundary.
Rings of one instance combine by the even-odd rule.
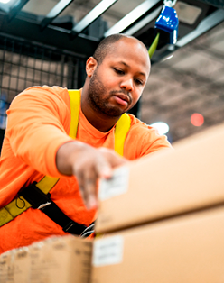
[[[60, 91], [68, 96], [66, 89]], [[7, 111], [7, 134], [14, 155], [52, 177], [61, 176], [56, 152], [71, 140], [69, 100], [66, 103], [60, 91], [59, 87], [30, 87], [14, 98]]]

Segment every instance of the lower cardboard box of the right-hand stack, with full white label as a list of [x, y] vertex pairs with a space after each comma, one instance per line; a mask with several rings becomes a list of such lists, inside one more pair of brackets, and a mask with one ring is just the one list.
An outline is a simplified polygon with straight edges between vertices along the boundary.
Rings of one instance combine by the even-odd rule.
[[104, 235], [91, 283], [221, 283], [224, 206]]

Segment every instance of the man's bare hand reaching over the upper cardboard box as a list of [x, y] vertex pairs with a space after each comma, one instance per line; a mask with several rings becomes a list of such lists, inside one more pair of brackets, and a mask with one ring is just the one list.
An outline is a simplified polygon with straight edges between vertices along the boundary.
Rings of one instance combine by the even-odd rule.
[[79, 141], [63, 144], [56, 156], [61, 174], [74, 175], [78, 179], [80, 194], [88, 209], [98, 206], [98, 178], [110, 178], [112, 169], [126, 162], [115, 151], [95, 149]]

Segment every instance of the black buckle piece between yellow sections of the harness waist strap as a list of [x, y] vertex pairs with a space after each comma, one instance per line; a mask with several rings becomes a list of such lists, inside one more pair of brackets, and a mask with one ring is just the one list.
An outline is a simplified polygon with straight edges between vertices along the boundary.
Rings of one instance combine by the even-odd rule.
[[48, 193], [45, 195], [40, 188], [35, 186], [36, 184], [37, 182], [33, 182], [28, 187], [23, 187], [22, 190], [19, 191], [18, 195], [23, 196], [33, 208], [38, 208], [41, 205], [51, 203], [51, 194]]

